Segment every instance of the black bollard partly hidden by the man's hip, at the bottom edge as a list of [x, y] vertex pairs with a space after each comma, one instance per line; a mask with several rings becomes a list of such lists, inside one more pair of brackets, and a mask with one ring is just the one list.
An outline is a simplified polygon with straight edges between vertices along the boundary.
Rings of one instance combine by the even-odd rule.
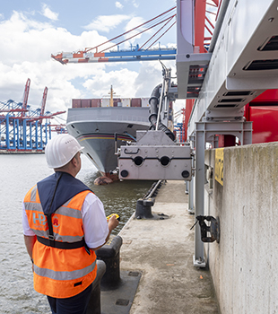
[[91, 297], [88, 303], [86, 314], [101, 314], [100, 310], [100, 281], [105, 273], [106, 266], [102, 260], [97, 260], [97, 277], [92, 283]]

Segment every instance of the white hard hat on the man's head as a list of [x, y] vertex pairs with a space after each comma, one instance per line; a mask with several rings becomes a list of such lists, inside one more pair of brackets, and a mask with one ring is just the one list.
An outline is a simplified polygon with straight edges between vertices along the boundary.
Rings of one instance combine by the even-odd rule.
[[65, 166], [83, 148], [72, 135], [56, 135], [46, 146], [48, 167], [56, 169]]

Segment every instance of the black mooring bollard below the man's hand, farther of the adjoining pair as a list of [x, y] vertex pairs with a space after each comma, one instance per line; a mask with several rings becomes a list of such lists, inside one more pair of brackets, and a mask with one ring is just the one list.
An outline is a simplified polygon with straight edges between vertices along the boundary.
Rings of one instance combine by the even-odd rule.
[[106, 264], [106, 273], [101, 279], [101, 288], [115, 289], [120, 283], [119, 250], [122, 243], [122, 238], [116, 236], [96, 251], [97, 258]]

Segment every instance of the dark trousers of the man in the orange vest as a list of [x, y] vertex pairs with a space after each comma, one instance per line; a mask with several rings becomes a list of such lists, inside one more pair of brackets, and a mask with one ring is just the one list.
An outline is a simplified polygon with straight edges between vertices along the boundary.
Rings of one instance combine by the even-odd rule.
[[86, 314], [91, 296], [91, 287], [92, 285], [90, 284], [83, 292], [71, 298], [57, 299], [48, 297], [52, 314]]

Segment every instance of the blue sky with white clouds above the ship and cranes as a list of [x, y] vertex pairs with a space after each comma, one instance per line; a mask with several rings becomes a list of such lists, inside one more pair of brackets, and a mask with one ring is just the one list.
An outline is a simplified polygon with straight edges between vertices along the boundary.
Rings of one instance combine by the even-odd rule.
[[[70, 108], [72, 99], [108, 96], [110, 85], [122, 98], [150, 97], [153, 88], [162, 83], [159, 61], [61, 65], [51, 54], [94, 47], [175, 5], [175, 0], [3, 1], [0, 6], [0, 101], [22, 101], [28, 78], [31, 109], [41, 106], [47, 86], [46, 111], [50, 112]], [[121, 44], [120, 48], [140, 46], [153, 33], [153, 30], [147, 31]], [[159, 45], [172, 48], [176, 42], [174, 26], [160, 39]], [[175, 76], [175, 61], [163, 63]], [[178, 109], [184, 103], [179, 103]]]

